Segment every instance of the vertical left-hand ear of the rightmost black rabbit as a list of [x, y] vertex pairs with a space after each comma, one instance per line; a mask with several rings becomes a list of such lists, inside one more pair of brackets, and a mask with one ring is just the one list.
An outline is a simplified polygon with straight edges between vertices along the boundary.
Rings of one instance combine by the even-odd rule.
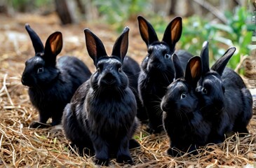
[[208, 71], [210, 71], [210, 68], [209, 68], [209, 48], [208, 48], [208, 41], [205, 41], [203, 43], [203, 49], [201, 50], [201, 54], [200, 54], [200, 57], [201, 57], [201, 61], [202, 61], [202, 74], [206, 74]]

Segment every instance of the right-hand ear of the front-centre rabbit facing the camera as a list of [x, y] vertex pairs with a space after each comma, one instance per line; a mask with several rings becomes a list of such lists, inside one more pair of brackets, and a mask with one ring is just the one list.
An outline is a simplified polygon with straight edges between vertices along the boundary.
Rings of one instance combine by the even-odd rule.
[[125, 27], [123, 29], [123, 33], [116, 39], [114, 43], [112, 55], [120, 57], [121, 62], [123, 62], [123, 58], [126, 56], [128, 50], [128, 34], [129, 28]]

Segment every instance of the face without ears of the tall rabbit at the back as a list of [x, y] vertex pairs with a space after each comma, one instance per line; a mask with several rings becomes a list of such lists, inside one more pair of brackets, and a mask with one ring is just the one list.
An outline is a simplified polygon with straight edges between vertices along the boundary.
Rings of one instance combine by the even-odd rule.
[[167, 71], [172, 66], [170, 48], [164, 43], [154, 43], [149, 46], [148, 55], [142, 62], [146, 71]]

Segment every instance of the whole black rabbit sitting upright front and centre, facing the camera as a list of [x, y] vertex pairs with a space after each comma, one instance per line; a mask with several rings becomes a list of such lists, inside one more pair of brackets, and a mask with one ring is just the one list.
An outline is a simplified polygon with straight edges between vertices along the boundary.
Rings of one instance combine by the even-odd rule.
[[84, 30], [88, 54], [97, 71], [76, 91], [62, 119], [67, 139], [79, 151], [95, 151], [98, 165], [108, 165], [112, 155], [117, 162], [133, 164], [129, 141], [135, 141], [137, 104], [122, 70], [128, 32], [126, 27], [114, 43], [112, 56], [108, 56], [100, 38]]

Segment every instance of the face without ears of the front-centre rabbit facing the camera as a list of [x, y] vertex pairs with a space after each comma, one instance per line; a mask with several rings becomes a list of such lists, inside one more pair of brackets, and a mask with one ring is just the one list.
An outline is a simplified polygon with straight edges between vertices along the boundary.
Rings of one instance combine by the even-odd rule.
[[122, 70], [122, 64], [113, 57], [100, 59], [97, 62], [97, 71], [91, 78], [94, 89], [123, 90], [128, 87], [128, 77]]

